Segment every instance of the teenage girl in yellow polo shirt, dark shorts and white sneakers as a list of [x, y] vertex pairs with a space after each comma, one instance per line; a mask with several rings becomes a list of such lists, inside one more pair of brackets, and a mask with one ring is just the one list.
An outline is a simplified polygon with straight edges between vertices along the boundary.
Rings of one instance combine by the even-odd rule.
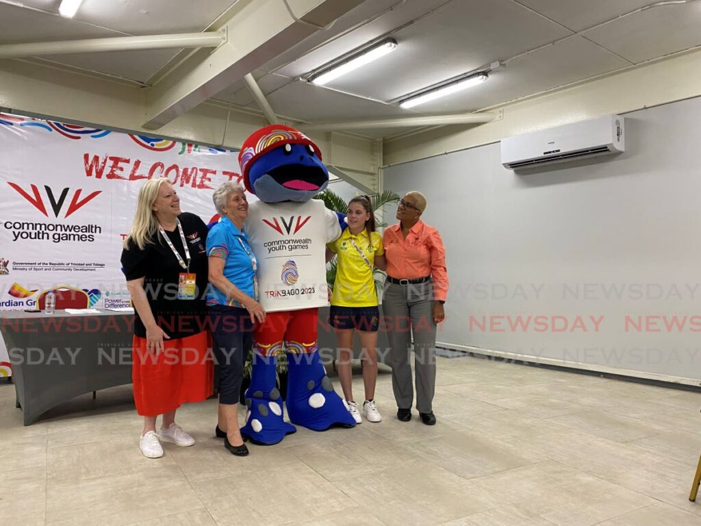
[[385, 264], [382, 236], [375, 231], [375, 216], [368, 196], [358, 196], [348, 203], [348, 228], [341, 237], [327, 245], [327, 261], [334, 254], [338, 257], [336, 280], [331, 297], [329, 325], [336, 332], [339, 343], [339, 360], [336, 362], [341, 379], [341, 389], [355, 422], [362, 417], [353, 399], [353, 332], [358, 331], [362, 381], [365, 385], [365, 402], [362, 414], [370, 422], [380, 422], [382, 417], [375, 405], [377, 381], [377, 330], [379, 310], [375, 290], [374, 267]]

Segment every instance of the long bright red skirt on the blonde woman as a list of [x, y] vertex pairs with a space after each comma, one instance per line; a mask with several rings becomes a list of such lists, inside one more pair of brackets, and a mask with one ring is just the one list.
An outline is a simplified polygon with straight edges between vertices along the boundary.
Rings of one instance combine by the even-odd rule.
[[156, 417], [187, 402], [212, 396], [214, 363], [209, 332], [179, 339], [164, 339], [163, 352], [149, 353], [146, 338], [135, 336], [132, 382], [137, 413]]

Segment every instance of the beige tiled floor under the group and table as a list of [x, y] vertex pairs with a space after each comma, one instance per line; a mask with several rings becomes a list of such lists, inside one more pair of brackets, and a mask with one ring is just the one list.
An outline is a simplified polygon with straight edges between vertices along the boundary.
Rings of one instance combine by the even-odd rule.
[[437, 384], [434, 427], [397, 421], [383, 369], [383, 422], [299, 429], [244, 459], [212, 436], [215, 400], [187, 405], [197, 444], [156, 460], [129, 387], [24, 427], [1, 385], [0, 524], [701, 525], [700, 393], [474, 357], [439, 358]]

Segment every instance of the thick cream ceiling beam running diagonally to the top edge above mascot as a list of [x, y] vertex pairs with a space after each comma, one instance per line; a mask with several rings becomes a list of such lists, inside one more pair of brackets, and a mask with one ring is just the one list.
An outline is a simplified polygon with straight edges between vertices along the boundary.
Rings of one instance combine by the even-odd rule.
[[226, 43], [211, 53], [198, 50], [149, 88], [143, 127], [160, 128], [363, 1], [239, 0], [244, 5], [225, 26]]

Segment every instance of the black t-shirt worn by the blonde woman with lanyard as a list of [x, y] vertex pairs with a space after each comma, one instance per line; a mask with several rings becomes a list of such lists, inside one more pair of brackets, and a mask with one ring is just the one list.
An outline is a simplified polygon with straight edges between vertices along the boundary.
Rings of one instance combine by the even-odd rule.
[[[173, 254], [163, 236], [157, 233], [144, 250], [130, 244], [129, 250], [122, 250], [122, 271], [127, 281], [144, 279], [151, 312], [156, 324], [170, 336], [170, 339], [184, 338], [205, 330], [207, 307], [207, 225], [195, 214], [182, 213], [178, 216], [185, 241], [190, 250], [190, 273], [196, 274], [196, 299], [178, 299], [177, 289], [181, 272], [187, 272]], [[175, 231], [165, 231], [171, 243], [187, 262], [177, 227]], [[134, 334], [145, 338], [146, 328], [136, 313]]]

